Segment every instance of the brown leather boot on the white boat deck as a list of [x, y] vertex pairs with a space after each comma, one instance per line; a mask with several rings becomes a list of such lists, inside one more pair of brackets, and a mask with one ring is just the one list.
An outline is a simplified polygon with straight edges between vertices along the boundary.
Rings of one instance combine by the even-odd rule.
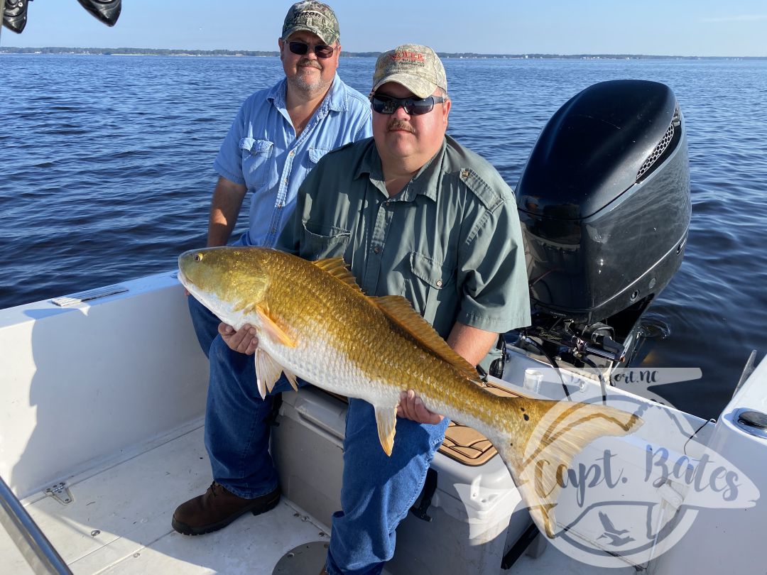
[[202, 535], [226, 527], [240, 515], [254, 515], [274, 509], [280, 488], [255, 499], [243, 499], [213, 481], [205, 494], [180, 504], [173, 513], [173, 529], [184, 535]]

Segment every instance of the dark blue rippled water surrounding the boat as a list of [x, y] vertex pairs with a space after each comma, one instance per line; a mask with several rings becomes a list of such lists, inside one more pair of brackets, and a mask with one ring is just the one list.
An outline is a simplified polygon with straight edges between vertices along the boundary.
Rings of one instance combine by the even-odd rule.
[[[367, 93], [374, 61], [341, 61]], [[767, 61], [446, 61], [450, 133], [512, 186], [548, 117], [598, 81], [670, 85], [686, 117], [693, 221], [643, 365], [700, 367], [652, 389], [716, 417], [767, 351]], [[0, 55], [0, 308], [175, 268], [205, 241], [212, 161], [276, 58]], [[243, 216], [247, 216], [243, 210]], [[239, 228], [245, 227], [241, 218]]]

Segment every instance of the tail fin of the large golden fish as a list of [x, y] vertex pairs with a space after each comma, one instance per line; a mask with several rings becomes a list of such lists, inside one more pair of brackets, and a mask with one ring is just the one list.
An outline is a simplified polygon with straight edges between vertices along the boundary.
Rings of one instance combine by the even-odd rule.
[[504, 399], [512, 409], [507, 419], [510, 425], [493, 445], [533, 521], [548, 537], [554, 537], [554, 508], [574, 456], [594, 439], [634, 432], [642, 419], [621, 409], [588, 403]]

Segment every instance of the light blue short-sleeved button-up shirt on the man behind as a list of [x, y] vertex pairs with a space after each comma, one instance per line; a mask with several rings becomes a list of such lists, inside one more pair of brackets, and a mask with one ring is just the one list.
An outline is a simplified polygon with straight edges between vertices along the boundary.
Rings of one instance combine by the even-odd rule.
[[250, 228], [240, 243], [274, 247], [295, 208], [298, 186], [326, 153], [372, 136], [370, 103], [336, 77], [296, 138], [285, 106], [287, 81], [252, 94], [235, 117], [213, 163], [251, 195]]

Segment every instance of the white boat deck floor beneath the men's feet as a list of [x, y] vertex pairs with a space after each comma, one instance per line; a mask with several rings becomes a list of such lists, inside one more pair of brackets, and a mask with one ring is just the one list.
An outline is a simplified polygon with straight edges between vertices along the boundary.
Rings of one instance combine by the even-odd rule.
[[[328, 541], [328, 526], [282, 499], [266, 514], [245, 514], [234, 524], [197, 537], [173, 531], [176, 505], [206, 490], [210, 480], [202, 426], [154, 442], [126, 461], [104, 465], [67, 481], [73, 501], [64, 505], [38, 494], [23, 501], [31, 517], [75, 575], [93, 573], [255, 573], [272, 575], [288, 551]], [[429, 550], [424, 550], [428, 556]], [[0, 532], [3, 573], [32, 573], [7, 534]], [[315, 575], [321, 564], [308, 573]], [[522, 556], [499, 573], [634, 573], [597, 569], [550, 545], [541, 557]], [[295, 573], [302, 575], [302, 573]]]

